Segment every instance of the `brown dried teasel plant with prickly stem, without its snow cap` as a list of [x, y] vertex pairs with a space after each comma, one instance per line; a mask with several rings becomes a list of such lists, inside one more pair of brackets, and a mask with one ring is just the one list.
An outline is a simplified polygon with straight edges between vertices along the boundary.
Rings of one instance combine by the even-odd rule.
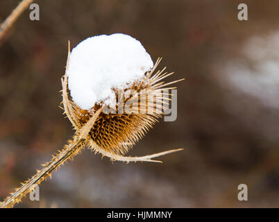
[[[138, 80], [130, 89], [135, 89], [135, 92], [145, 89], [147, 92], [146, 107], [151, 107], [155, 110], [151, 114], [141, 114], [138, 112], [142, 107], [137, 108], [135, 113], [124, 114], [106, 114], [103, 112], [103, 105], [95, 105], [91, 110], [82, 110], [68, 97], [67, 93], [67, 67], [69, 65], [70, 47], [68, 51], [67, 66], [65, 75], [62, 77], [62, 105], [63, 110], [69, 121], [71, 121], [74, 130], [76, 131], [73, 139], [68, 141], [68, 144], [58, 151], [50, 162], [42, 164], [42, 169], [37, 170], [37, 173], [29, 180], [22, 183], [22, 187], [15, 189], [15, 192], [10, 194], [2, 203], [0, 207], [13, 207], [15, 203], [21, 202], [22, 198], [33, 191], [36, 185], [51, 177], [51, 173], [57, 170], [61, 165], [65, 164], [67, 160], [73, 160], [73, 157], [81, 152], [85, 146], [88, 146], [95, 153], [109, 157], [112, 161], [122, 162], [161, 162], [159, 160], [152, 160], [154, 157], [181, 151], [183, 148], [178, 148], [153, 155], [145, 155], [142, 157], [127, 157], [124, 154], [142, 138], [149, 128], [153, 126], [158, 118], [162, 117], [164, 112], [162, 107], [155, 107], [157, 100], [169, 101], [169, 94], [162, 93], [162, 89], [174, 89], [175, 87], [167, 87], [180, 80], [171, 83], [161, 82], [162, 79], [171, 76], [174, 73], [167, 74], [164, 69], [157, 71], [161, 59], [158, 59], [153, 69], [146, 74], [145, 78]], [[155, 73], [155, 74], [154, 74]], [[183, 79], [181, 79], [183, 80]], [[128, 90], [128, 89], [126, 89]], [[115, 91], [117, 94], [118, 92]], [[130, 99], [138, 99], [135, 93]], [[155, 100], [151, 99], [156, 96]], [[132, 110], [133, 111], [133, 110]], [[134, 110], [135, 111], [135, 110]], [[143, 111], [143, 110], [142, 110]]]

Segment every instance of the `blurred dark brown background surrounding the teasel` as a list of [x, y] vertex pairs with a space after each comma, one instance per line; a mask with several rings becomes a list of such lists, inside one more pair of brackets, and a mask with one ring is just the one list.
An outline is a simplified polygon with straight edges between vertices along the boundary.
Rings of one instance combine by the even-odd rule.
[[[0, 22], [18, 1], [0, 1]], [[279, 1], [35, 1], [0, 46], [0, 199], [73, 135], [60, 78], [71, 46], [126, 33], [175, 71], [178, 118], [128, 155], [170, 148], [163, 164], [110, 162], [85, 150], [17, 207], [279, 207]], [[248, 21], [237, 19], [239, 3]], [[237, 186], [248, 185], [248, 201]]]

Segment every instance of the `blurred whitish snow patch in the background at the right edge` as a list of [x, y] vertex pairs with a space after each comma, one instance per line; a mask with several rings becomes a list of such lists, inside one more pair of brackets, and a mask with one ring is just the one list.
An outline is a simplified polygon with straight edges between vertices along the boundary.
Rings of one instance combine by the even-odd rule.
[[[277, 109], [279, 108], [278, 48], [279, 31], [262, 37], [252, 37], [243, 49], [246, 60], [228, 62], [225, 68], [231, 86], [260, 99], [263, 105]], [[252, 65], [252, 69], [249, 64]]]

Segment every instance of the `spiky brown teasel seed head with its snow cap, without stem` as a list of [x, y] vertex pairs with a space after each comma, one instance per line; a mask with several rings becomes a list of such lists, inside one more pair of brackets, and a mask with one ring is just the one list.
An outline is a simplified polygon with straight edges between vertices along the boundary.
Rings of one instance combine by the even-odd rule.
[[[124, 34], [88, 38], [69, 57], [69, 91], [79, 126], [100, 110], [87, 138], [123, 155], [153, 127], [169, 105], [170, 76], [157, 71], [142, 44]], [[108, 112], [109, 111], [109, 112]]]

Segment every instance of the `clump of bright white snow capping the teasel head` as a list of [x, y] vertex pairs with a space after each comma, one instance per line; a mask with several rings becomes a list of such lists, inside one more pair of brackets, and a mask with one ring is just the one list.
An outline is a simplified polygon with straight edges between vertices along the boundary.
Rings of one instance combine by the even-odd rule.
[[112, 88], [128, 88], [152, 67], [149, 53], [130, 35], [88, 37], [71, 51], [67, 69], [71, 97], [83, 110], [101, 101], [114, 107]]

